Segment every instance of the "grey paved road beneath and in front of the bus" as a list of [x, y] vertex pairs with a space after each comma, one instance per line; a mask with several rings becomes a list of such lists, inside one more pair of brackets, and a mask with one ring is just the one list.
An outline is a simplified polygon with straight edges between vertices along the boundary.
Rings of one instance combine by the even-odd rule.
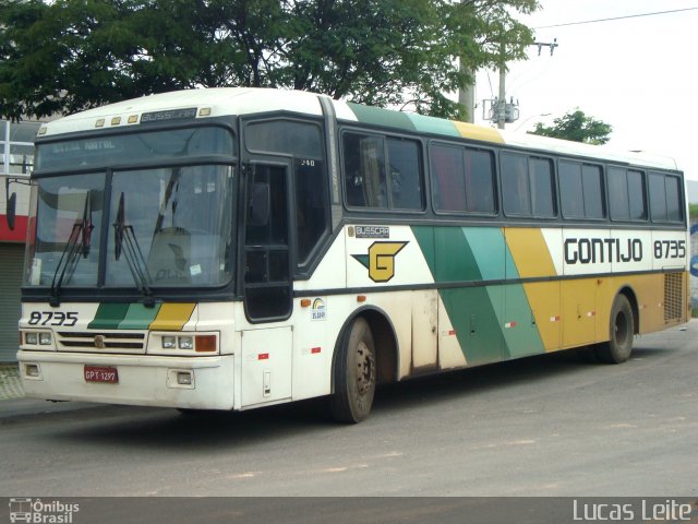
[[200, 418], [7, 401], [0, 496], [695, 497], [697, 335], [639, 338], [622, 366], [558, 354], [393, 384], [357, 426], [317, 402]]

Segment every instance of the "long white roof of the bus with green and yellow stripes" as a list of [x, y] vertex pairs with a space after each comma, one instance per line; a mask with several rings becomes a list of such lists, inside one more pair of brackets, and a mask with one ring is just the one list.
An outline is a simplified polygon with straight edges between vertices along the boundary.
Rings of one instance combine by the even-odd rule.
[[[320, 97], [326, 95], [303, 91], [282, 91], [253, 87], [212, 87], [177, 91], [144, 96], [101, 106], [48, 122], [39, 130], [40, 136], [95, 129], [129, 128], [152, 120], [176, 120], [179, 118], [204, 119], [228, 115], [251, 115], [290, 111], [321, 117]], [[401, 131], [429, 133], [447, 138], [466, 138], [484, 144], [508, 144], [541, 153], [565, 154], [624, 164], [677, 169], [674, 159], [613, 150], [605, 145], [590, 145], [566, 140], [550, 139], [528, 133], [501, 131], [471, 123], [394, 111], [344, 100], [332, 100], [337, 119], [381, 126]]]

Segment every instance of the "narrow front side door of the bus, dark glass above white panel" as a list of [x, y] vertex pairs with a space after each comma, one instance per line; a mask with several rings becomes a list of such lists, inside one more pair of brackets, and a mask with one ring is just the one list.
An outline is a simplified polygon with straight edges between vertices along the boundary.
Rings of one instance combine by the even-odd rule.
[[[242, 405], [290, 398], [292, 310], [288, 165], [249, 164], [243, 245]], [[279, 325], [280, 324], [280, 325]]]

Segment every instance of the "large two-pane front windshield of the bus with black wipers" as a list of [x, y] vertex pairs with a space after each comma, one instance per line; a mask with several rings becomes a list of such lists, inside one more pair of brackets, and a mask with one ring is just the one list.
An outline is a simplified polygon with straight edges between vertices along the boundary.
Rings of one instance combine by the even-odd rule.
[[25, 285], [227, 284], [232, 180], [227, 165], [39, 178]]

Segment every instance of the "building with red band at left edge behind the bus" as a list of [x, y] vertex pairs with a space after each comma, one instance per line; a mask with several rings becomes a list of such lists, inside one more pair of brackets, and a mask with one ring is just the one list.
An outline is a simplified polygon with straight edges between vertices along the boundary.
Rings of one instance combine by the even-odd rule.
[[[34, 138], [39, 122], [0, 120], [0, 362], [14, 362], [17, 350], [20, 288], [34, 165]], [[14, 229], [7, 221], [7, 199], [16, 193]]]

